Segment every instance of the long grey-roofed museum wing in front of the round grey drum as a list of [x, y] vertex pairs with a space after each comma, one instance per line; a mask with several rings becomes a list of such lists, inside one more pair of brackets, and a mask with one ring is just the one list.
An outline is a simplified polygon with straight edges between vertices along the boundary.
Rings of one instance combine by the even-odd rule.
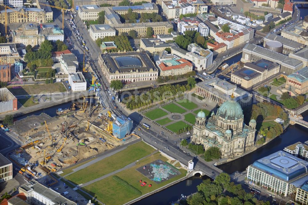
[[290, 58], [284, 54], [247, 43], [243, 48], [242, 62], [255, 62], [260, 59], [265, 59], [281, 65], [280, 72], [291, 74], [297, 70], [302, 69], [303, 62], [294, 58]]

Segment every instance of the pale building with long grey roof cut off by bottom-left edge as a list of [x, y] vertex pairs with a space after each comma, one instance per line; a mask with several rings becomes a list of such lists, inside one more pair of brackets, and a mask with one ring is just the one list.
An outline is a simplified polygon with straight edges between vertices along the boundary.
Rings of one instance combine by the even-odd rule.
[[77, 203], [37, 181], [29, 181], [21, 185], [18, 187], [18, 191], [26, 196], [26, 201], [30, 204], [77, 205]]

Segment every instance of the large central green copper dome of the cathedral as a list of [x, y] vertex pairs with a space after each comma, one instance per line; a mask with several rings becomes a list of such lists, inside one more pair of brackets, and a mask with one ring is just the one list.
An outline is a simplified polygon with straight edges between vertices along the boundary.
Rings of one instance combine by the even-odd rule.
[[225, 120], [237, 120], [243, 117], [243, 111], [238, 102], [230, 100], [221, 104], [216, 115]]

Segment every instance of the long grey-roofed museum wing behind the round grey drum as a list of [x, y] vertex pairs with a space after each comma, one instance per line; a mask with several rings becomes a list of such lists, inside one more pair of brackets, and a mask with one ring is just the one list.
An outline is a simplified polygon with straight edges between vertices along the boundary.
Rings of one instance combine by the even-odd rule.
[[265, 46], [265, 43], [268, 41], [278, 41], [281, 42], [283, 47], [282, 47], [282, 54], [288, 55], [291, 51], [301, 49], [306, 47], [304, 44], [292, 41], [290, 39], [284, 38], [282, 36], [276, 35], [276, 34], [267, 34], [264, 37], [264, 43], [263, 46]]

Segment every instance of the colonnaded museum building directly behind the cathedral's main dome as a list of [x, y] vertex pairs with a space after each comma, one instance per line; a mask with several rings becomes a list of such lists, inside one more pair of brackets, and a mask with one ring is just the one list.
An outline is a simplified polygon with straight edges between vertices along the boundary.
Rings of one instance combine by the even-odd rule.
[[229, 101], [232, 94], [234, 96], [234, 101], [240, 103], [242, 107], [249, 106], [252, 99], [252, 94], [249, 92], [217, 77], [197, 83], [195, 94], [208, 98], [218, 105]]

